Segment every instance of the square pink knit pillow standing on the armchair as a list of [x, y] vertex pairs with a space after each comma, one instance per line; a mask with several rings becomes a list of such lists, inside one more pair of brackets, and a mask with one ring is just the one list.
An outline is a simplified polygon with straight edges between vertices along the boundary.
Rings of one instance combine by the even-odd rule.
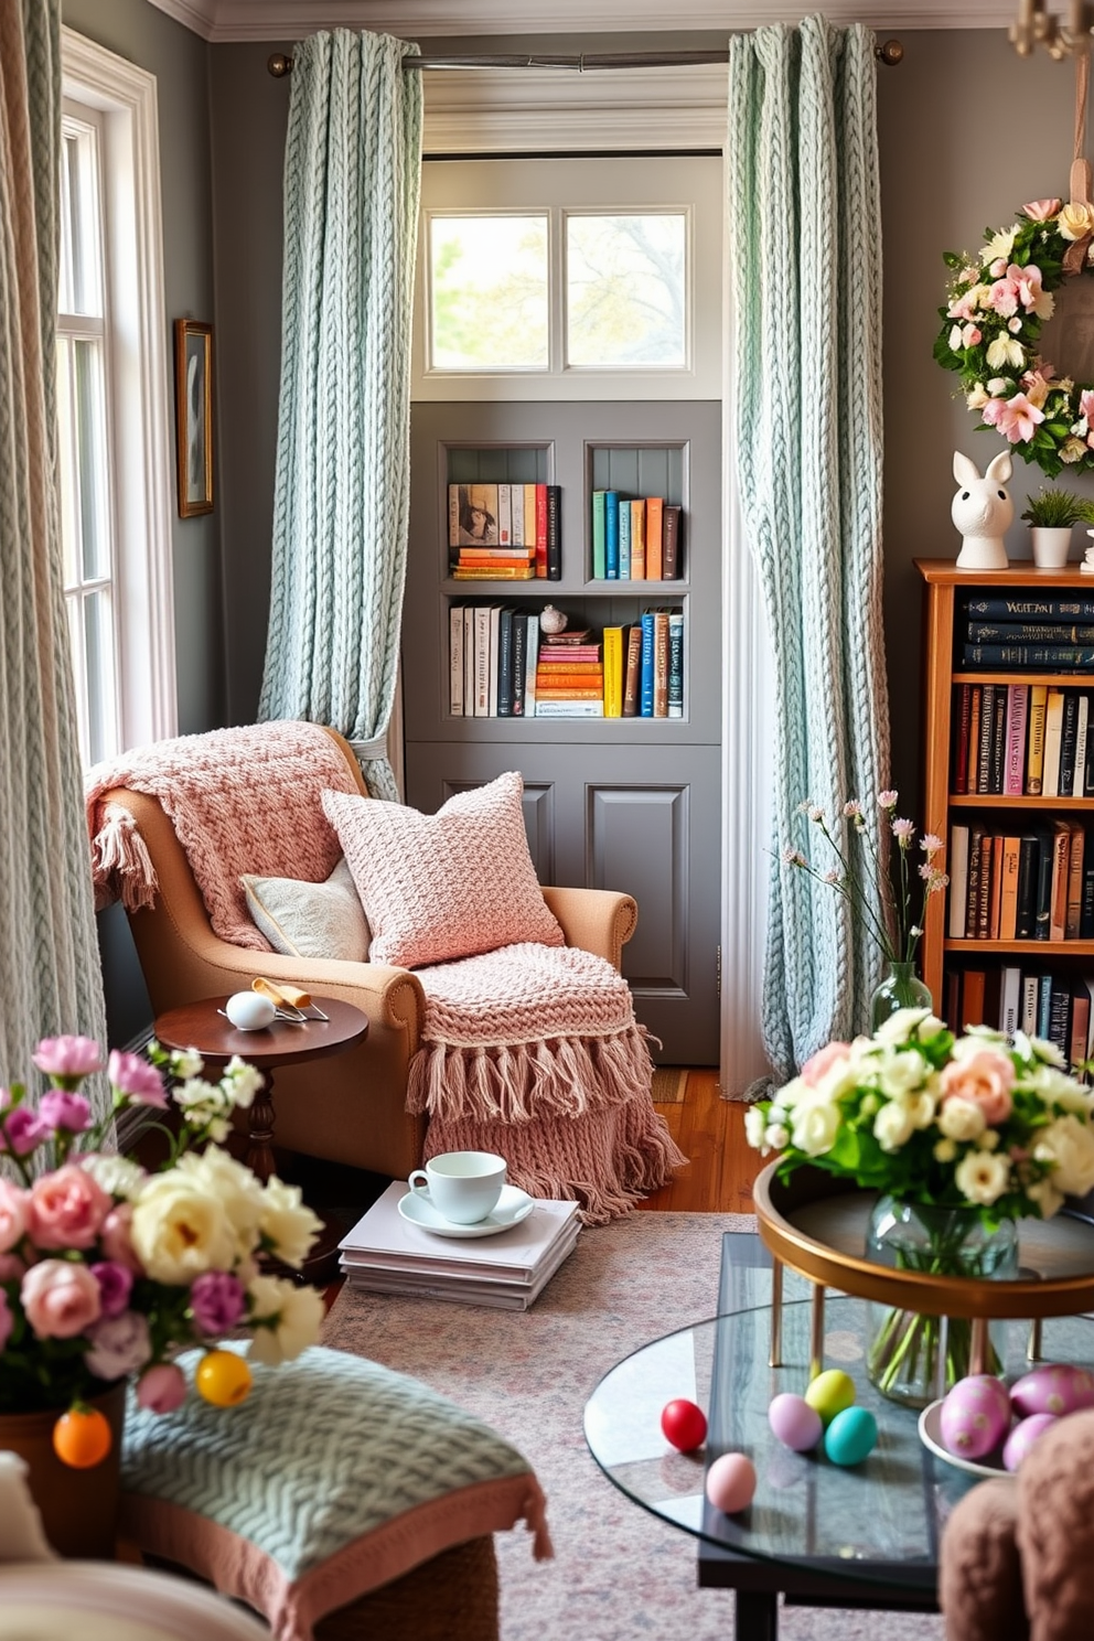
[[369, 960], [417, 968], [535, 940], [564, 945], [528, 853], [523, 779], [499, 775], [423, 816], [325, 791], [372, 929]]

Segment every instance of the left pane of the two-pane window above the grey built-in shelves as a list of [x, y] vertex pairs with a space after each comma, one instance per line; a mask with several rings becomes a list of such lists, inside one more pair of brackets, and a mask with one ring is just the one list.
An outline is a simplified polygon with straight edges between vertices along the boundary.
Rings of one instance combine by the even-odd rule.
[[430, 363], [548, 368], [548, 218], [430, 218]]

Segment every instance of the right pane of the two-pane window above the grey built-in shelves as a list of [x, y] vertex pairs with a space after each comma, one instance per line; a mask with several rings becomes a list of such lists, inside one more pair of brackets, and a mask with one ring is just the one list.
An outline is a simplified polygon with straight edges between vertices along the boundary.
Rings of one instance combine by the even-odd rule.
[[566, 363], [682, 369], [684, 213], [566, 217]]

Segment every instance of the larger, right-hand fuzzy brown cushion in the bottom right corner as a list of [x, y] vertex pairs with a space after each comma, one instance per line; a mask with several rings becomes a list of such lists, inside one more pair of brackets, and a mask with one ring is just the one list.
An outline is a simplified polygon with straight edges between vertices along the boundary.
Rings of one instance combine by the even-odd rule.
[[1091, 1641], [1094, 1410], [1045, 1431], [1022, 1462], [1015, 1490], [1030, 1641]]

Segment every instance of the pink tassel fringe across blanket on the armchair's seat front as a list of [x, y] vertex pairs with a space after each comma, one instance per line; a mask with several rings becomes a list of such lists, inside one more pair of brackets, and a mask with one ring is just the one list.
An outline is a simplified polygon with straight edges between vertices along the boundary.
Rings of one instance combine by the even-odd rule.
[[636, 1021], [607, 1037], [545, 1037], [474, 1049], [430, 1042], [410, 1062], [407, 1109], [431, 1119], [535, 1122], [586, 1116], [650, 1096], [648, 1032]]

